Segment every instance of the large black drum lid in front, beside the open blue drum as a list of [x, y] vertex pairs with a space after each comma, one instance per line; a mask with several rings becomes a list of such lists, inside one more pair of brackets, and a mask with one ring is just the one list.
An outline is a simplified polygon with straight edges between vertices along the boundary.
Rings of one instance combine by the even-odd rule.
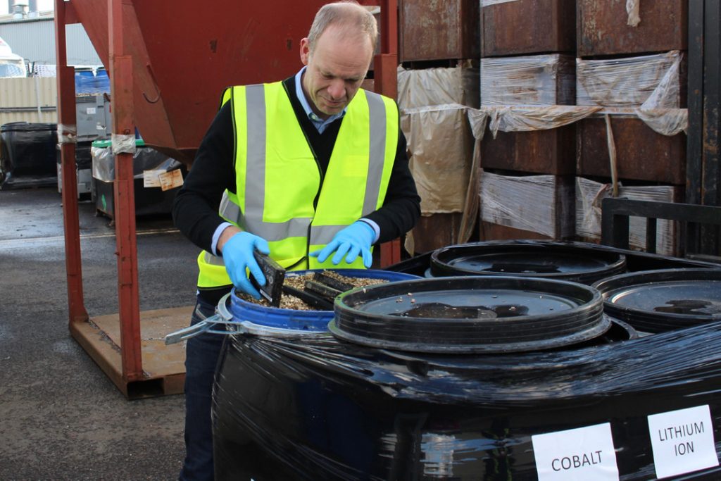
[[446, 277], [357, 288], [335, 301], [333, 335], [419, 353], [510, 353], [603, 335], [601, 295], [580, 283], [510, 276]]

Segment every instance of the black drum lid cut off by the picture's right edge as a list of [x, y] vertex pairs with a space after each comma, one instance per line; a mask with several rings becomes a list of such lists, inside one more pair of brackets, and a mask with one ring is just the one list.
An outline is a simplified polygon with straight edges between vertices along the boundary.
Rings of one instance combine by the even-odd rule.
[[642, 332], [721, 320], [721, 269], [664, 269], [616, 275], [593, 285], [606, 314]]

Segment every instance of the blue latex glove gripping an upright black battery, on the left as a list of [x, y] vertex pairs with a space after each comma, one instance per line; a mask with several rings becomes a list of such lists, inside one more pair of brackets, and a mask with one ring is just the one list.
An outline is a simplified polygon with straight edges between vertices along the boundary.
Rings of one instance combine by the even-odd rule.
[[250, 294], [255, 299], [260, 299], [260, 293], [250, 283], [246, 273], [247, 268], [258, 285], [265, 286], [265, 275], [253, 255], [253, 251], [256, 249], [263, 254], [270, 254], [270, 248], [265, 239], [250, 232], [239, 232], [224, 244], [222, 254], [226, 272], [236, 289]]

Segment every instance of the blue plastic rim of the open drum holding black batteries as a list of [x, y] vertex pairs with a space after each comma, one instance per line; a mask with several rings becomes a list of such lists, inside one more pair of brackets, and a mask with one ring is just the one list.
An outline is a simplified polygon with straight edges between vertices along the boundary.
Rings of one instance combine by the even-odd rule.
[[[328, 269], [292, 270], [286, 273], [286, 277], [322, 272], [323, 270]], [[389, 282], [419, 278], [417, 275], [399, 273], [392, 270], [334, 269], [332, 271], [347, 277], [382, 279]], [[253, 302], [244, 301], [239, 296], [236, 296], [235, 290], [230, 296], [229, 304], [229, 311], [233, 314], [234, 322], [245, 321], [253, 325], [272, 327], [275, 329], [324, 332], [328, 330], [328, 323], [333, 319], [334, 315], [333, 311], [298, 311], [296, 309], [262, 306]]]

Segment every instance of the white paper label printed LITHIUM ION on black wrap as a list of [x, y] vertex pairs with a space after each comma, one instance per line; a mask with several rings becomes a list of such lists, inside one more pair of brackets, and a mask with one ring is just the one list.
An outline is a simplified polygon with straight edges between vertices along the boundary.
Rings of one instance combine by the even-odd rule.
[[708, 405], [650, 415], [648, 430], [656, 477], [719, 465]]

